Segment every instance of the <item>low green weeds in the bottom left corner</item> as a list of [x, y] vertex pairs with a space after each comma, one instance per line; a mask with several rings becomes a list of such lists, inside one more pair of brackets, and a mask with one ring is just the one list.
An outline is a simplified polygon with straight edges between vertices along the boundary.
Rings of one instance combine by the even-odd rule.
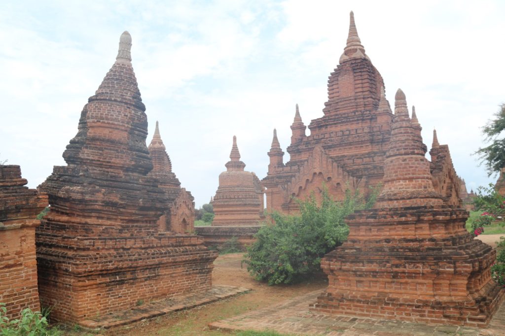
[[61, 331], [49, 328], [47, 318], [29, 308], [21, 311], [21, 317], [9, 320], [7, 308], [0, 303], [0, 335], [2, 336], [57, 336]]

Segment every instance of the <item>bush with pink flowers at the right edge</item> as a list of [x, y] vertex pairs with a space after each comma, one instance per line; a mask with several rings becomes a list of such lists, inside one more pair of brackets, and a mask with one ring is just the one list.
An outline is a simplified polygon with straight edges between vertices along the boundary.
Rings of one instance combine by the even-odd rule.
[[473, 203], [475, 209], [481, 211], [480, 216], [472, 218], [471, 233], [474, 236], [482, 234], [485, 227], [490, 226], [491, 223], [505, 225], [505, 199], [496, 192], [493, 184], [477, 188]]

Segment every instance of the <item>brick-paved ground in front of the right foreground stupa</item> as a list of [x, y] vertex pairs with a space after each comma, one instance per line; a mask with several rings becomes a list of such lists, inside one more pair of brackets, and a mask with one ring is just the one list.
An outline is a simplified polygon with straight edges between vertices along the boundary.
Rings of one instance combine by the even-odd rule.
[[438, 336], [505, 335], [505, 304], [502, 304], [487, 328], [458, 325], [427, 325], [395, 320], [325, 315], [309, 311], [321, 291], [311, 292], [281, 304], [259, 309], [209, 324], [222, 330], [275, 330], [295, 335], [342, 336]]

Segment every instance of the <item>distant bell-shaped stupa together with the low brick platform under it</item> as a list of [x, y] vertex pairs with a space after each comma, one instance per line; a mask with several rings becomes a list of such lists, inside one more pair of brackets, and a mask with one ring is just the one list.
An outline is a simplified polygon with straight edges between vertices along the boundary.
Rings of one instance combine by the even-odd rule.
[[240, 161], [237, 137], [233, 136], [230, 161], [226, 172], [219, 175], [219, 187], [212, 198], [214, 220], [211, 227], [198, 227], [196, 232], [205, 237], [207, 246], [220, 248], [232, 238], [237, 239], [239, 248], [254, 242], [254, 234], [265, 219], [263, 187], [255, 173], [244, 171]]

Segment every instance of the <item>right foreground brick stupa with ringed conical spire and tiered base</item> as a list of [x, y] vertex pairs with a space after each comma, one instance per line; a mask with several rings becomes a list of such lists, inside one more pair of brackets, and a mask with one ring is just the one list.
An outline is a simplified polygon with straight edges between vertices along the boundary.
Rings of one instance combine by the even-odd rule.
[[384, 188], [375, 209], [346, 218], [347, 240], [321, 261], [329, 284], [315, 309], [485, 326], [505, 291], [490, 277], [496, 252], [465, 229], [468, 212], [433, 187], [421, 127], [405, 94], [395, 98]]

